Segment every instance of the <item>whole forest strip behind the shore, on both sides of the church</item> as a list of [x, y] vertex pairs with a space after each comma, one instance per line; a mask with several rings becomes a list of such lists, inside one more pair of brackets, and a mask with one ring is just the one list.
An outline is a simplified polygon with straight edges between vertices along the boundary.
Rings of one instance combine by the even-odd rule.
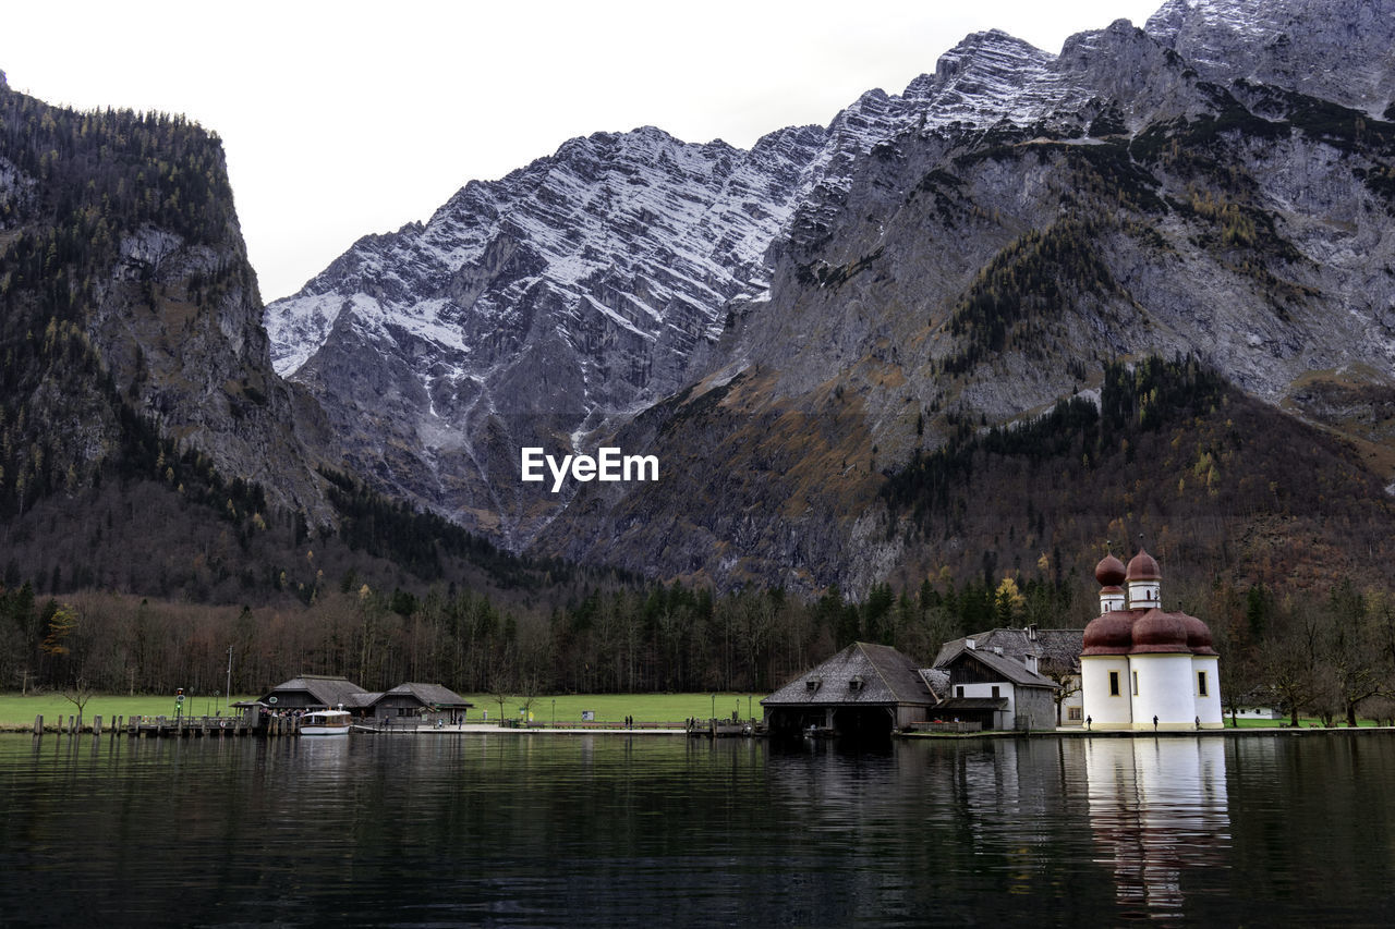
[[[928, 667], [940, 644], [993, 628], [1083, 628], [1092, 579], [1031, 576], [917, 590], [875, 586], [848, 600], [781, 590], [714, 594], [682, 584], [591, 589], [551, 608], [476, 590], [372, 590], [345, 575], [306, 605], [191, 605], [80, 591], [0, 590], [6, 689], [86, 688], [193, 695], [261, 692], [300, 674], [342, 674], [370, 690], [406, 681], [462, 693], [771, 692], [855, 640], [893, 644]], [[1228, 709], [1276, 706], [1293, 723], [1395, 718], [1395, 593], [1339, 582], [1278, 593], [1187, 577], [1165, 596], [1202, 617], [1222, 658]]]

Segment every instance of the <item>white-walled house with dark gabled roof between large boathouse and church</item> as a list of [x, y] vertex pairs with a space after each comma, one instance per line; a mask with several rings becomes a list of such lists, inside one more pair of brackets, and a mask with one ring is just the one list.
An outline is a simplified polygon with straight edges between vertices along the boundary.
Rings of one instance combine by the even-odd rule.
[[950, 675], [950, 696], [935, 707], [940, 718], [985, 730], [1056, 728], [1057, 686], [1031, 664], [967, 639], [936, 668]]

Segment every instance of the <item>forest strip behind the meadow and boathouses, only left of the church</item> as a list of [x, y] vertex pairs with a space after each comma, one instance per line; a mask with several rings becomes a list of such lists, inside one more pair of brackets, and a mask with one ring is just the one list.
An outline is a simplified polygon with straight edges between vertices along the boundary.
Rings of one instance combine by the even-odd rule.
[[[259, 690], [297, 674], [363, 686], [439, 682], [467, 693], [773, 690], [854, 640], [928, 661], [946, 637], [1045, 619], [1071, 594], [1048, 580], [917, 591], [877, 584], [861, 600], [783, 590], [725, 594], [684, 584], [590, 586], [566, 603], [508, 603], [456, 584], [374, 590], [354, 571], [310, 603], [195, 605], [128, 594], [36, 593], [6, 572], [0, 681], [10, 689]], [[215, 688], [218, 689], [218, 688]]]

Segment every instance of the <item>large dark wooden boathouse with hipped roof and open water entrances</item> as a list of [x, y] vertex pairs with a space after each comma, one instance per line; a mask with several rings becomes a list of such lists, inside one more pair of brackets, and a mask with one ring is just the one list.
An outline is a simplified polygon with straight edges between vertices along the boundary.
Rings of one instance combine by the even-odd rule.
[[854, 642], [760, 702], [776, 735], [884, 737], [929, 718], [937, 703], [915, 661], [891, 646]]

